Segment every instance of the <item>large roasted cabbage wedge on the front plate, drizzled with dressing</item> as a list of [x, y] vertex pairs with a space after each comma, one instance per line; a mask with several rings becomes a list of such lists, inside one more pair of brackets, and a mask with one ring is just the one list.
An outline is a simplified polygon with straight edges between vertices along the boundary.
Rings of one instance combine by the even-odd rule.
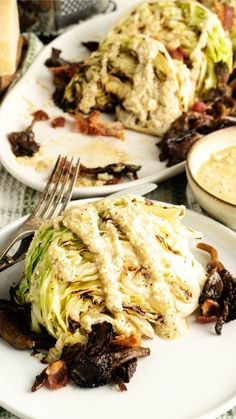
[[181, 223], [184, 214], [124, 195], [71, 207], [40, 227], [15, 301], [30, 306], [35, 332], [44, 327], [57, 339], [50, 361], [104, 321], [124, 336], [185, 332], [206, 274], [188, 244], [199, 233]]

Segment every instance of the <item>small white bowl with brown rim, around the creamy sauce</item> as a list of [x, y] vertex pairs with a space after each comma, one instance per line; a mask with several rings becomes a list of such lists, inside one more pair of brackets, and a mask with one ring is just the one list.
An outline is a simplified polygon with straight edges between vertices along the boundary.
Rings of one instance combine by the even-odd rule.
[[232, 146], [236, 146], [236, 127], [215, 131], [200, 139], [192, 145], [188, 152], [186, 174], [200, 206], [214, 218], [236, 230], [236, 205], [216, 197], [204, 189], [196, 180], [199, 167], [213, 153]]

